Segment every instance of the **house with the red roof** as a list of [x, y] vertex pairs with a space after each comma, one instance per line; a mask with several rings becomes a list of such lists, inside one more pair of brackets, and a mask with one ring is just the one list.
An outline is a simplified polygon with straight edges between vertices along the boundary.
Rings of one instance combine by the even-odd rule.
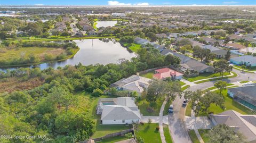
[[155, 70], [155, 74], [153, 75], [154, 79], [166, 79], [166, 78], [172, 78], [174, 80], [182, 79], [183, 73], [180, 73], [178, 71], [169, 69], [169, 68], [163, 68], [163, 69], [158, 69]]

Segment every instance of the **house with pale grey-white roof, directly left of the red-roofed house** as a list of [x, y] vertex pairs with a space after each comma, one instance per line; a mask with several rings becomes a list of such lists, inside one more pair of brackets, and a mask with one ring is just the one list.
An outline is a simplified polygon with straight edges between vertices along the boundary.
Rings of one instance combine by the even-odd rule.
[[118, 80], [110, 85], [110, 87], [118, 90], [125, 90], [129, 92], [136, 91], [139, 95], [148, 88], [151, 79], [140, 77], [139, 75], [132, 75], [129, 78]]

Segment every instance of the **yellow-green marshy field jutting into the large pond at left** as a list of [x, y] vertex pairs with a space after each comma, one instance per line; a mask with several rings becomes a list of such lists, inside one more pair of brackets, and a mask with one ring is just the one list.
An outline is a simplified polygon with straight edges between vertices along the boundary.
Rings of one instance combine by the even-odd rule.
[[75, 43], [20, 42], [0, 47], [0, 66], [32, 65], [62, 61], [73, 57], [79, 48]]

